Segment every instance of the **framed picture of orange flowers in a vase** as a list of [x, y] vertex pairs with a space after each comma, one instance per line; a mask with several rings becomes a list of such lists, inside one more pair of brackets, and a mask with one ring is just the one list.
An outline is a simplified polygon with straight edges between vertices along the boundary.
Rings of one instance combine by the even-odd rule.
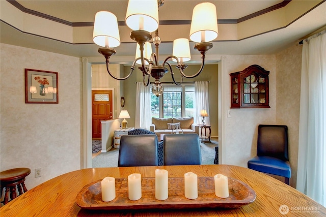
[[58, 72], [25, 69], [25, 103], [59, 103]]

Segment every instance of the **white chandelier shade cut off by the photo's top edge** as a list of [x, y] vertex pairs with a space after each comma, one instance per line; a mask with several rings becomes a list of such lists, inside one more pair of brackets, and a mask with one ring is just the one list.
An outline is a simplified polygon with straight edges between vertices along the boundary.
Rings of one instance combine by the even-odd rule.
[[129, 0], [125, 21], [132, 30], [154, 32], [158, 28], [157, 0]]

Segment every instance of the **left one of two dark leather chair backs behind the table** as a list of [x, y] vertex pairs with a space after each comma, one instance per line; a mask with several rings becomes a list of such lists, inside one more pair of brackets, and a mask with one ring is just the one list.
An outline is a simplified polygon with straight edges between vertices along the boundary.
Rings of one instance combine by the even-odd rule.
[[118, 167], [158, 166], [156, 135], [121, 136]]

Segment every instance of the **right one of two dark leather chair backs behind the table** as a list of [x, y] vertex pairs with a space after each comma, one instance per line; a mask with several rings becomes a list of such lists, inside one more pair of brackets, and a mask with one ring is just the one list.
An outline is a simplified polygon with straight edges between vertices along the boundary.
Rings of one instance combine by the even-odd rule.
[[198, 134], [166, 134], [163, 141], [164, 165], [202, 164]]

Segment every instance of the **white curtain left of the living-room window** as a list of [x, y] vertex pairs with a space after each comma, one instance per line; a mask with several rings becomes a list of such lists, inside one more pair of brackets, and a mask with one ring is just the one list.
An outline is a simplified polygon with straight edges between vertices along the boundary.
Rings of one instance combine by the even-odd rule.
[[144, 86], [143, 82], [137, 82], [135, 129], [149, 130], [151, 120], [151, 92], [150, 86]]

